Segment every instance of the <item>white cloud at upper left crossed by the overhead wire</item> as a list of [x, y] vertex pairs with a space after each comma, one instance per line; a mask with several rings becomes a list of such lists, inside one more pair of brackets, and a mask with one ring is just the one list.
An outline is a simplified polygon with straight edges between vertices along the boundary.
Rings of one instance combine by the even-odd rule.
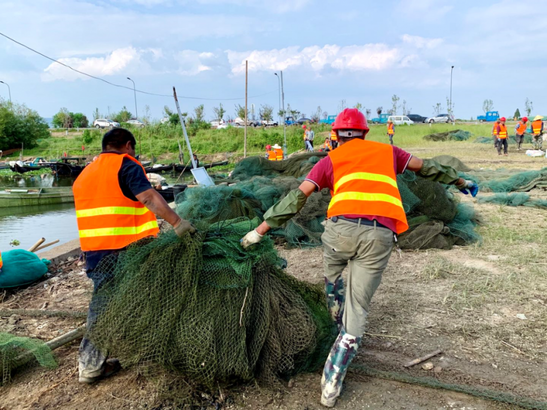
[[[106, 75], [118, 74], [124, 71], [127, 66], [139, 60], [141, 51], [133, 47], [126, 47], [112, 51], [106, 57], [88, 57], [88, 58], [59, 58], [59, 61], [71, 66], [78, 71], [94, 75], [95, 77], [104, 77]], [[85, 75], [63, 67], [58, 63], [51, 63], [44, 69], [42, 79], [44, 81], [88, 79]]]

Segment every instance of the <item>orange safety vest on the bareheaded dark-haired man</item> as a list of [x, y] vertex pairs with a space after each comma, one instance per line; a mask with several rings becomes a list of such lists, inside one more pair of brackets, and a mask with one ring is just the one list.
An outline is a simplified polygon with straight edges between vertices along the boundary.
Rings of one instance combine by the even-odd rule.
[[[154, 213], [121, 191], [118, 172], [124, 158], [141, 165], [128, 154], [101, 154], [74, 181], [72, 191], [83, 251], [121, 249], [158, 235]], [[142, 172], [146, 175], [144, 168]]]

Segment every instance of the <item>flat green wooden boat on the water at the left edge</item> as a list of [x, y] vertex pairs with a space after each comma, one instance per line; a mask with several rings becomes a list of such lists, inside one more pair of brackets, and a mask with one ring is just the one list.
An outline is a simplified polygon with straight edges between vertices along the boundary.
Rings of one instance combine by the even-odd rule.
[[71, 186], [59, 188], [0, 188], [0, 208], [74, 202]]

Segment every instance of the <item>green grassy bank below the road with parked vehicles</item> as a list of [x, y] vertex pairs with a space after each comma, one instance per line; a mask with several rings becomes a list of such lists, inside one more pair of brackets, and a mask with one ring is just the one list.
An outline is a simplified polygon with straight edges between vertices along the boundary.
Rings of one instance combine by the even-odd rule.
[[[491, 124], [415, 124], [411, 126], [398, 126], [395, 130], [395, 143], [401, 148], [436, 148], [446, 147], [446, 143], [432, 142], [423, 139], [423, 136], [435, 133], [460, 129], [473, 134], [471, 140], [476, 137], [490, 136]], [[509, 130], [513, 128], [508, 125]], [[330, 126], [313, 126], [316, 132], [315, 146], [319, 147], [328, 137]], [[178, 156], [178, 142], [181, 142], [185, 151], [184, 138], [180, 127], [159, 125], [143, 129], [132, 130], [137, 139], [137, 153], [141, 151], [145, 159], [152, 155], [162, 161], [176, 161]], [[25, 157], [44, 156], [55, 158], [67, 155], [81, 155], [82, 145], [85, 146], [85, 155], [93, 156], [101, 151], [101, 139], [104, 131], [91, 131], [91, 140], [83, 142], [83, 131], [69, 132], [52, 130], [51, 138], [39, 141], [37, 148], [25, 150]], [[289, 153], [303, 148], [302, 128], [287, 127], [287, 145]], [[368, 138], [380, 142], [389, 142], [386, 136], [386, 125], [371, 125]], [[194, 151], [200, 155], [225, 154], [227, 156], [240, 157], [243, 154], [243, 128], [228, 128], [225, 130], [199, 130], [195, 136], [190, 137], [190, 143]], [[283, 145], [283, 128], [248, 128], [247, 153], [250, 155], [262, 154], [266, 144]], [[457, 145], [455, 146], [457, 147]]]

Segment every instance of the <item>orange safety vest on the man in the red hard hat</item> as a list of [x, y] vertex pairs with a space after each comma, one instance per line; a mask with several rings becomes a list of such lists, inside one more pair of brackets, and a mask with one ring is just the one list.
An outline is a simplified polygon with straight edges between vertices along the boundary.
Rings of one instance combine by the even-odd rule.
[[329, 153], [334, 191], [327, 217], [377, 215], [392, 218], [397, 233], [408, 229], [397, 186], [393, 147], [354, 138]]

